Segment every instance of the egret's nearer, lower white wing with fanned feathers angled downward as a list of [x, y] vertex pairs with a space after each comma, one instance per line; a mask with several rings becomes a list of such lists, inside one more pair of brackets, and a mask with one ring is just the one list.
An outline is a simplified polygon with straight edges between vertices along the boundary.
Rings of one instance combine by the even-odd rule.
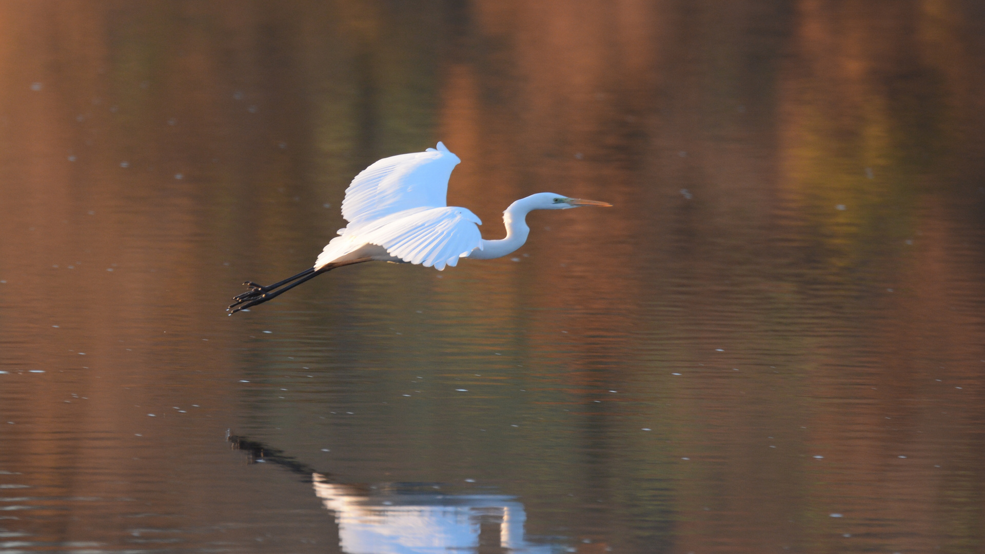
[[407, 215], [378, 227], [360, 241], [379, 244], [395, 257], [437, 270], [452, 267], [458, 258], [469, 255], [482, 244], [482, 225], [475, 214], [465, 208], [448, 206], [428, 210], [410, 210]]

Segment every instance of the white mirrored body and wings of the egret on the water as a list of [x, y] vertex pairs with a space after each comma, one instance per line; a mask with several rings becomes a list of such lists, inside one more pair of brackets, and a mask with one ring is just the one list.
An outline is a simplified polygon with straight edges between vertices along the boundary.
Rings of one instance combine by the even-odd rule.
[[410, 554], [498, 546], [548, 553], [523, 539], [523, 505], [503, 495], [450, 496], [366, 491], [312, 475], [314, 492], [335, 513], [348, 554]]

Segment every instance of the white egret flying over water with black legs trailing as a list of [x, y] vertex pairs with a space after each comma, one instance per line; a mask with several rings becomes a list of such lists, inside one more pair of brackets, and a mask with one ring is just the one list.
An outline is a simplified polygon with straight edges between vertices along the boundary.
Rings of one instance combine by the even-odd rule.
[[458, 258], [493, 259], [527, 242], [527, 214], [533, 210], [567, 210], [578, 206], [612, 206], [608, 202], [538, 192], [513, 202], [502, 213], [506, 238], [487, 241], [482, 221], [466, 208], [448, 206], [448, 177], [461, 162], [440, 142], [437, 148], [391, 156], [356, 175], [342, 201], [339, 230], [314, 266], [273, 285], [252, 281], [249, 290], [232, 297], [230, 315], [274, 299], [297, 285], [343, 265], [364, 261], [418, 263], [438, 271]]

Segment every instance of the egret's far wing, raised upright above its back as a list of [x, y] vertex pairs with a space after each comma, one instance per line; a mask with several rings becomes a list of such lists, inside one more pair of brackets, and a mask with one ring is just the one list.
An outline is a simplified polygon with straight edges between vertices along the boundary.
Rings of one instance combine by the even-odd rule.
[[362, 170], [342, 201], [348, 229], [411, 208], [446, 206], [448, 177], [459, 162], [458, 156], [439, 142], [437, 150], [384, 158]]

